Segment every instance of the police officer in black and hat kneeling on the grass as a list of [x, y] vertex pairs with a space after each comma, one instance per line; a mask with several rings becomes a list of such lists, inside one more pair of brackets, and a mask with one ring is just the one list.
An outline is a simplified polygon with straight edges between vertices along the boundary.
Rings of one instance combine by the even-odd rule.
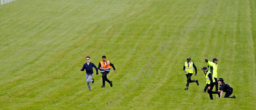
[[[236, 98], [235, 95], [233, 95], [232, 97], [229, 97], [233, 93], [233, 88], [230, 87], [226, 82], [224, 82], [223, 78], [219, 78], [218, 83], [219, 83], [219, 91], [221, 91], [220, 98], [223, 92], [226, 92], [224, 98]], [[216, 97], [218, 97], [218, 95]]]

